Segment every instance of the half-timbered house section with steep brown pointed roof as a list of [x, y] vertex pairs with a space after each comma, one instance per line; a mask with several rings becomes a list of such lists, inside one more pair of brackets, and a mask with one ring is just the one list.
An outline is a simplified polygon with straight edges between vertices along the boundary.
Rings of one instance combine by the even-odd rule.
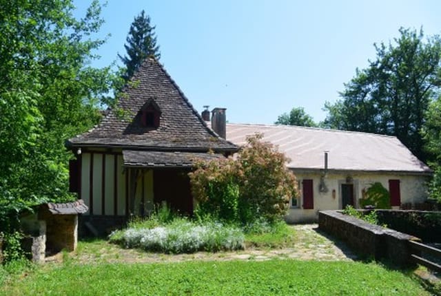
[[[225, 109], [213, 114], [222, 120]], [[94, 129], [69, 139], [66, 147], [75, 156], [70, 190], [89, 207], [80, 224], [95, 234], [132, 215], [148, 215], [161, 202], [192, 213], [187, 173], [194, 161], [238, 149], [207, 127], [154, 59], [146, 59], [127, 83], [116, 109]]]

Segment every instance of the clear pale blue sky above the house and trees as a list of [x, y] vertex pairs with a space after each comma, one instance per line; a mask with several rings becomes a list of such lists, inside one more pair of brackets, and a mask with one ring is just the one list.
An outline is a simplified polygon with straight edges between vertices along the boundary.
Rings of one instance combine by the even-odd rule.
[[[89, 1], [75, 0], [78, 15]], [[109, 0], [101, 33], [102, 67], [125, 54], [141, 10], [156, 25], [161, 63], [198, 111], [227, 108], [230, 123], [274, 123], [292, 107], [323, 120], [356, 67], [367, 67], [373, 43], [398, 29], [441, 32], [441, 1]]]

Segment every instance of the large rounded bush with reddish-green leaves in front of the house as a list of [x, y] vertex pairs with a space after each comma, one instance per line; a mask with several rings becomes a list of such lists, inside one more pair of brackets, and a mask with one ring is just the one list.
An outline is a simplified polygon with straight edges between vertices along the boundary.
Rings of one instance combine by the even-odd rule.
[[285, 155], [261, 138], [249, 136], [235, 159], [199, 162], [189, 173], [198, 215], [242, 224], [283, 218], [298, 194], [296, 178], [285, 167]]

